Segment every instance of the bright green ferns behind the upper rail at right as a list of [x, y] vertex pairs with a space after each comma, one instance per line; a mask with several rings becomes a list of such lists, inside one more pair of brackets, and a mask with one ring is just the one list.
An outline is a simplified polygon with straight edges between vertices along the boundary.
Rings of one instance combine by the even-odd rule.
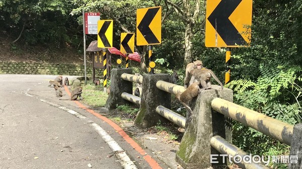
[[301, 67], [270, 62], [260, 65], [259, 70], [256, 82], [239, 79], [226, 85], [234, 90], [236, 102], [289, 123], [302, 121], [302, 88], [297, 85], [302, 78], [296, 77]]

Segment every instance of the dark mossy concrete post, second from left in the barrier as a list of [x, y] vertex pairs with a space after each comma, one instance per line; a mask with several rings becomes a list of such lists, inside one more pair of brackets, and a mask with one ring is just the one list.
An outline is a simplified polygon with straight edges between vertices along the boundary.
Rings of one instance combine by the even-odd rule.
[[143, 74], [142, 97], [140, 108], [134, 124], [139, 128], [155, 126], [159, 121], [165, 123], [168, 120], [156, 112], [156, 108], [162, 105], [171, 108], [171, 94], [156, 87], [159, 80], [169, 81], [167, 74]]

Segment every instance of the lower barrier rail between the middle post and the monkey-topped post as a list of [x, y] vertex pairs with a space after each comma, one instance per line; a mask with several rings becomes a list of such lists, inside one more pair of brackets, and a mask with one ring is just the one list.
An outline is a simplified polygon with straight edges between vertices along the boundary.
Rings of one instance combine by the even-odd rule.
[[156, 108], [156, 112], [158, 112], [161, 116], [167, 118], [171, 122], [175, 123], [176, 125], [186, 128], [186, 117], [175, 113], [174, 111], [164, 107], [164, 106], [158, 106]]

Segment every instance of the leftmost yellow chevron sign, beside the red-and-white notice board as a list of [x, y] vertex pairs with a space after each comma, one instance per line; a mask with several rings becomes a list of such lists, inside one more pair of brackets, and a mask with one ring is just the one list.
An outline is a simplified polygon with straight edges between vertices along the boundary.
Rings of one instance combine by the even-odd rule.
[[98, 21], [98, 48], [112, 48], [113, 21]]

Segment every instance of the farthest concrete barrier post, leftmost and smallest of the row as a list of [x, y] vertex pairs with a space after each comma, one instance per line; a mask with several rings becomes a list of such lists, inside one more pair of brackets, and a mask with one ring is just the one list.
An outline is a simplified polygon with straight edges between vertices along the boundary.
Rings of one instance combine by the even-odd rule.
[[132, 82], [123, 80], [121, 78], [123, 73], [132, 74], [132, 69], [112, 69], [110, 94], [105, 106], [108, 110], [115, 109], [116, 105], [132, 104], [121, 97], [123, 92], [132, 94]]

